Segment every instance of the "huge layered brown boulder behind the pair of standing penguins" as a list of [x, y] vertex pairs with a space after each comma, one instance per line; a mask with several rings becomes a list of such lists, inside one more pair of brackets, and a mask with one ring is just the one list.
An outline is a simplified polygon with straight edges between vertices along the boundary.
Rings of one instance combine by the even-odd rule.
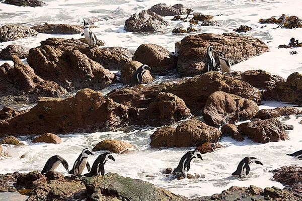
[[261, 40], [235, 33], [190, 35], [175, 44], [178, 72], [185, 75], [201, 73], [208, 46], [214, 46], [215, 52], [223, 51], [231, 64], [269, 51], [269, 47]]

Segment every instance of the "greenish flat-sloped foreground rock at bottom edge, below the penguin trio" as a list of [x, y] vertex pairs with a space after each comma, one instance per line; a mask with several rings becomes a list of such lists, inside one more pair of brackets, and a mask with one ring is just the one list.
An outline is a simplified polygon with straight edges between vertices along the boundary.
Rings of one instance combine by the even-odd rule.
[[[88, 196], [94, 193], [122, 197], [126, 200], [184, 200], [186, 197], [173, 194], [153, 184], [139, 179], [122, 177], [116, 173], [107, 173], [104, 176], [84, 177]], [[112, 193], [114, 192], [114, 193]]]

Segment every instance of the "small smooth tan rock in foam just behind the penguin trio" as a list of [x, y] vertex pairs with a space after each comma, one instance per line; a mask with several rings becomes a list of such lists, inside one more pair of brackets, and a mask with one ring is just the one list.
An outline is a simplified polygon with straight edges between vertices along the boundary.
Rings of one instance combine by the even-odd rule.
[[134, 149], [134, 146], [126, 142], [108, 139], [99, 142], [92, 151], [108, 150], [113, 153], [122, 153], [126, 149]]

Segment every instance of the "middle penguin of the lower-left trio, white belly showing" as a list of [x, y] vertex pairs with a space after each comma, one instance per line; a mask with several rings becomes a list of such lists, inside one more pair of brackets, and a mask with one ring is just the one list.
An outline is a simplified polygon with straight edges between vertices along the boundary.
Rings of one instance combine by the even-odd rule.
[[75, 160], [72, 169], [68, 173], [81, 175], [85, 166], [87, 167], [88, 171], [90, 171], [90, 164], [87, 161], [89, 155], [93, 155], [93, 153], [88, 148], [83, 149], [82, 153], [80, 154], [78, 159]]

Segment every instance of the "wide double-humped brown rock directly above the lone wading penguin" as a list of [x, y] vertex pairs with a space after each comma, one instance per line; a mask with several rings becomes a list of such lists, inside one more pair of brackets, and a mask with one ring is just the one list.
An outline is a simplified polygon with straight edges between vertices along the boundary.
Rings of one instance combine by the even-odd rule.
[[218, 142], [220, 135], [218, 129], [193, 119], [181, 123], [176, 130], [171, 127], [158, 129], [150, 136], [150, 146], [195, 147], [204, 143]]

